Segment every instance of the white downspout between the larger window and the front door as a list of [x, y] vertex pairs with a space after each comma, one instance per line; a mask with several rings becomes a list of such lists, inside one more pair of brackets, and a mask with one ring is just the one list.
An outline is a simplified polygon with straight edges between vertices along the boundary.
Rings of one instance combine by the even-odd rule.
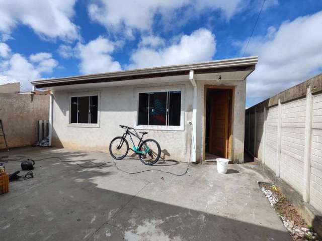
[[191, 137], [191, 162], [196, 163], [196, 141], [197, 141], [197, 83], [194, 79], [194, 72], [190, 70], [189, 80], [193, 86], [193, 112], [192, 112], [192, 137]]

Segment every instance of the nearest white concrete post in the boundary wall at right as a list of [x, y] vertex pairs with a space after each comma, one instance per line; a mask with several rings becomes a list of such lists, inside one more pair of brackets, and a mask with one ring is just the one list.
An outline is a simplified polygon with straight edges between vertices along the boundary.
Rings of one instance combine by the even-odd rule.
[[305, 110], [305, 142], [304, 142], [304, 185], [303, 185], [303, 200], [309, 202], [310, 194], [310, 176], [311, 176], [311, 132], [312, 132], [312, 109], [313, 95], [311, 86], [308, 86], [306, 93], [306, 110]]

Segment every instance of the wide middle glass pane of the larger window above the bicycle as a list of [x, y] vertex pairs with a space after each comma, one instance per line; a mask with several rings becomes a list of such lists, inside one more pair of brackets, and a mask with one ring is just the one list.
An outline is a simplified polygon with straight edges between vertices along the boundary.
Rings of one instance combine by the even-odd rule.
[[149, 101], [149, 124], [166, 126], [167, 92], [151, 92]]

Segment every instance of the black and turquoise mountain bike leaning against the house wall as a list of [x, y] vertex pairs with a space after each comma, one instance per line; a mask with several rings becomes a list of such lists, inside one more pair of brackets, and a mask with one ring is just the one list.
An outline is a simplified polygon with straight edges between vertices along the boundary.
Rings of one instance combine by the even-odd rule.
[[[126, 157], [129, 150], [132, 150], [136, 154], [138, 154], [141, 162], [145, 165], [153, 165], [156, 163], [161, 155], [160, 145], [153, 139], [143, 140], [143, 136], [147, 134], [147, 132], [140, 132], [142, 137], [136, 132], [136, 130], [132, 127], [122, 126], [120, 128], [126, 129], [125, 133], [122, 137], [115, 137], [109, 147], [109, 151], [111, 156], [116, 160], [121, 160]], [[133, 130], [131, 132], [130, 130]], [[126, 140], [127, 135], [129, 135], [130, 140], [133, 145], [133, 149], [129, 148], [129, 144]], [[135, 146], [132, 135], [139, 139], [139, 144], [137, 147]]]

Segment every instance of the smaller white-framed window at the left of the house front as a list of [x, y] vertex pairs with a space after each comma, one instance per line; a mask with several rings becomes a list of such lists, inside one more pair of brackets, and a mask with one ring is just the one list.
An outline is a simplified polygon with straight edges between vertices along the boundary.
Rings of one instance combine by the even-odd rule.
[[70, 124], [98, 123], [98, 95], [70, 98]]

